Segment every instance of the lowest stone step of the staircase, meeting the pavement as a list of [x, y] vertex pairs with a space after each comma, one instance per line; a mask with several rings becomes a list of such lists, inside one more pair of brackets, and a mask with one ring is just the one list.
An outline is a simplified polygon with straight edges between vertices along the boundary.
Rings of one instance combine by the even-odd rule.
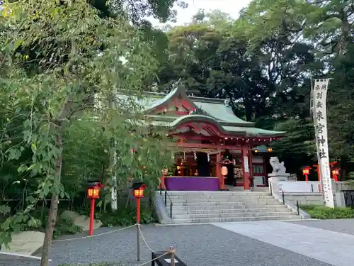
[[176, 218], [172, 223], [222, 223], [236, 221], [279, 221], [279, 220], [301, 220], [297, 215], [287, 216], [250, 216], [250, 217], [229, 217], [229, 218]]

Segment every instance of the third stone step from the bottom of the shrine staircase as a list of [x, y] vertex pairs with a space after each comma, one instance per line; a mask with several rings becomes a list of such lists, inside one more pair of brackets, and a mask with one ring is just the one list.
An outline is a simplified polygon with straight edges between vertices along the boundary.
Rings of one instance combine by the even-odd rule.
[[[170, 213], [170, 209], [168, 209]], [[244, 214], [244, 213], [292, 213], [290, 209], [173, 209], [172, 214]]]

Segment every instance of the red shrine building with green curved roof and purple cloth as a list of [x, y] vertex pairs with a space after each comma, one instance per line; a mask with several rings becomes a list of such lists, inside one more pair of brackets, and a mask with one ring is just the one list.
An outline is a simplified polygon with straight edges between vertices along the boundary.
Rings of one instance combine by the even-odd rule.
[[[177, 138], [175, 166], [162, 182], [167, 190], [217, 191], [226, 185], [266, 187], [270, 143], [285, 132], [256, 128], [235, 116], [223, 99], [188, 96], [181, 85], [169, 94], [147, 93], [144, 110], [152, 126]], [[227, 175], [222, 175], [222, 166]]]

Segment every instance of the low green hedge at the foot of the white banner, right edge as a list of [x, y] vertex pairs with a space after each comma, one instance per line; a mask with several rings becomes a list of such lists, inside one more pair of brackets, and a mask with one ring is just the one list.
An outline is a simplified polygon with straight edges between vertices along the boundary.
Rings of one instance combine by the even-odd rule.
[[354, 218], [354, 209], [351, 208], [329, 208], [325, 206], [304, 205], [301, 209], [307, 211], [311, 218], [316, 219], [341, 219]]

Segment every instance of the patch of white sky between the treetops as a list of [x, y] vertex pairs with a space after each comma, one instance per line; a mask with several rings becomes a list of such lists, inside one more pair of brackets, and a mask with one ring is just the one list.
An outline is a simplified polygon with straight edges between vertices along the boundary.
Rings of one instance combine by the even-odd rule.
[[[219, 9], [224, 13], [229, 13], [232, 18], [237, 18], [239, 11], [246, 7], [251, 0], [184, 0], [188, 3], [187, 9], [177, 9], [177, 22], [169, 23], [171, 25], [183, 25], [188, 23], [190, 18], [197, 13], [198, 9], [205, 9], [205, 11], [210, 11], [214, 9]], [[157, 21], [151, 20], [156, 26], [159, 25]]]

